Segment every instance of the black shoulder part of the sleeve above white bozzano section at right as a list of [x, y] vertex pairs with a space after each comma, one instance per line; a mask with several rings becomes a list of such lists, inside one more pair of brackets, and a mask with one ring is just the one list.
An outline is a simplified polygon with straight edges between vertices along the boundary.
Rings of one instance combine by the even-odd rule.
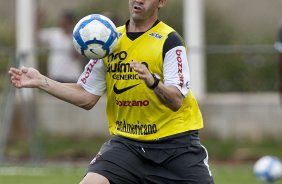
[[163, 58], [170, 49], [177, 46], [185, 46], [183, 39], [177, 32], [171, 32], [164, 43]]

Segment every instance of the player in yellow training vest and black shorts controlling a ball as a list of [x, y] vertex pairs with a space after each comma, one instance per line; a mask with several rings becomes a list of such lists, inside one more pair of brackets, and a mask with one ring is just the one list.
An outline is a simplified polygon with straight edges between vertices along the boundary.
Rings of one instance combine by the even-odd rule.
[[[85, 109], [107, 93], [111, 139], [81, 184], [212, 184], [203, 119], [190, 88], [183, 39], [158, 19], [166, 0], [129, 0], [115, 52], [91, 60], [77, 84], [11, 68], [15, 87], [35, 87]], [[95, 117], [93, 117], [95, 118]]]

